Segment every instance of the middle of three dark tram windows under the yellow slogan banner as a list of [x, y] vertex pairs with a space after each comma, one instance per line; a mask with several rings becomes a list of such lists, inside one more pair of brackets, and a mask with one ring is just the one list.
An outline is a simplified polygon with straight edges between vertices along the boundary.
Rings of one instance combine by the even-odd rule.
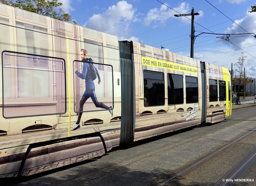
[[168, 74], [168, 105], [184, 103], [183, 76]]

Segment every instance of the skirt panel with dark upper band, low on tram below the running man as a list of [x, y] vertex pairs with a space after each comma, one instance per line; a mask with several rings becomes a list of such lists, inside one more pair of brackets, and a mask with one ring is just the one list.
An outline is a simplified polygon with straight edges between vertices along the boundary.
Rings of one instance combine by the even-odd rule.
[[29, 176], [105, 154], [100, 137], [77, 139], [33, 148], [23, 166], [22, 176]]

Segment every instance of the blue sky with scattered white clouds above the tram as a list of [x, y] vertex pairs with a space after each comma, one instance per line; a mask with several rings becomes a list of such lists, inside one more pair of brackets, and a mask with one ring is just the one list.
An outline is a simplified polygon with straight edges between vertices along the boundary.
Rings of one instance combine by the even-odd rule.
[[[195, 35], [201, 32], [256, 34], [256, 12], [248, 12], [256, 0], [58, 1], [81, 26], [116, 35], [119, 40], [138, 41], [157, 48], [164, 46], [166, 50], [186, 56], [190, 56], [191, 16], [174, 15], [189, 14], [193, 7], [200, 14], [195, 16]], [[216, 38], [222, 35], [201, 34], [195, 39], [194, 58], [231, 70], [231, 63], [235, 64], [244, 52], [247, 77], [256, 78], [256, 38], [253, 35], [231, 35], [231, 44]]]

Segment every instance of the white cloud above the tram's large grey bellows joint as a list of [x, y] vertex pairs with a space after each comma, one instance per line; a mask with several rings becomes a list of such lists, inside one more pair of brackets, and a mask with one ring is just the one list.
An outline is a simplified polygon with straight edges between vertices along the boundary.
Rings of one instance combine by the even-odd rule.
[[128, 38], [131, 30], [131, 23], [137, 21], [136, 9], [125, 0], [119, 1], [116, 5], [108, 7], [102, 14], [94, 14], [85, 27], [116, 35], [120, 38]]

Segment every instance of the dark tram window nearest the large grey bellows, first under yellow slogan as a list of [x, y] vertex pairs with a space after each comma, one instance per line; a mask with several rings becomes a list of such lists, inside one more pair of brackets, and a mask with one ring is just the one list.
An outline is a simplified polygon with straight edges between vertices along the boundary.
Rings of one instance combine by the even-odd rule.
[[144, 70], [144, 106], [164, 105], [164, 74]]

